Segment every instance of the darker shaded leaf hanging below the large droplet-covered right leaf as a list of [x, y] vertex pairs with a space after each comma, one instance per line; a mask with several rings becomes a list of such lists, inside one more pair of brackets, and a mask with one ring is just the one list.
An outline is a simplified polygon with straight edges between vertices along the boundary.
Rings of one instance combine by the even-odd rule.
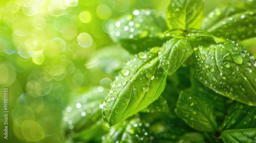
[[217, 129], [211, 100], [202, 99], [190, 90], [180, 92], [175, 111], [191, 128], [208, 133], [215, 133]]

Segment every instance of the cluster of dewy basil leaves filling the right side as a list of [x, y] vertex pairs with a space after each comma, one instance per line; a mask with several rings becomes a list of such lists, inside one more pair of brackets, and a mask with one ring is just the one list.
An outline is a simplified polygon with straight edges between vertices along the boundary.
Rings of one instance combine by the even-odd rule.
[[113, 68], [99, 105], [109, 128], [102, 142], [256, 142], [256, 59], [237, 43], [256, 36], [254, 9], [225, 3], [203, 21], [204, 1], [172, 0], [168, 30], [154, 10], [106, 21], [134, 57], [110, 56], [130, 60]]

